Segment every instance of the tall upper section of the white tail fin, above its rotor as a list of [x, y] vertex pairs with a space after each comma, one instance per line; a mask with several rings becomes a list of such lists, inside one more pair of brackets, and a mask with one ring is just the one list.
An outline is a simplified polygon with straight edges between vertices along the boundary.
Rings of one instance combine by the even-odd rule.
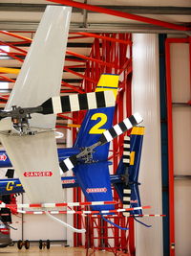
[[[12, 105], [41, 105], [59, 95], [70, 16], [71, 8], [46, 8], [6, 109], [11, 109]], [[32, 127], [54, 128], [55, 115], [32, 114], [30, 124]]]

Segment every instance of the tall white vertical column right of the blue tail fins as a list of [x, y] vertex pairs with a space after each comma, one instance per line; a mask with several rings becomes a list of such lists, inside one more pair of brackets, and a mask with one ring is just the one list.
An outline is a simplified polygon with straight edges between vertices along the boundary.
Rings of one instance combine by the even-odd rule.
[[[144, 213], [161, 214], [161, 166], [159, 122], [159, 46], [158, 35], [133, 35], [133, 112], [138, 111], [145, 126], [139, 182]], [[161, 219], [141, 219], [151, 228], [136, 224], [138, 256], [162, 255]]]

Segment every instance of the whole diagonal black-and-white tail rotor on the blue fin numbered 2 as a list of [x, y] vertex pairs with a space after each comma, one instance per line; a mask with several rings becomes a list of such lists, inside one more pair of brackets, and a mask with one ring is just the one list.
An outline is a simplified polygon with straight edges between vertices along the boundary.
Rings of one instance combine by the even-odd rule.
[[77, 164], [77, 158], [81, 156], [87, 155], [90, 151], [93, 151], [97, 146], [102, 146], [108, 142], [111, 142], [113, 139], [115, 139], [120, 134], [124, 133], [130, 128], [133, 128], [134, 126], [137, 126], [139, 123], [143, 121], [142, 117], [135, 113], [134, 115], [130, 116], [129, 118], [125, 118], [122, 122], [114, 126], [113, 128], [105, 130], [98, 142], [96, 144], [88, 147], [84, 151], [81, 151], [78, 154], [74, 154], [69, 158], [66, 158], [65, 160], [61, 161], [59, 163], [60, 168], [64, 173], [74, 168], [74, 166]]

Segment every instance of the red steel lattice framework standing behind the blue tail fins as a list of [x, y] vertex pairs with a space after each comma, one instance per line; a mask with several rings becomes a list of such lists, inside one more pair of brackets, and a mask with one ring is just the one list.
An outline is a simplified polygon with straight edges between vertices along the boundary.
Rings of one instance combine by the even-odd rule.
[[[93, 36], [93, 35], [91, 35]], [[116, 38], [115, 40], [108, 40], [107, 38]], [[131, 40], [131, 35], [129, 34], [101, 34], [96, 36], [95, 42], [92, 46], [92, 51], [89, 57], [89, 61], [86, 62], [86, 71], [84, 77], [90, 78], [89, 80], [84, 80], [82, 82], [81, 89], [85, 92], [90, 92], [95, 90], [96, 83], [93, 81], [98, 81], [100, 75], [102, 73], [116, 73], [122, 74], [123, 73], [123, 81], [120, 81], [119, 84], [119, 93], [117, 96], [117, 110], [115, 114], [115, 121], [114, 123], [120, 122], [124, 118], [124, 109], [128, 109], [128, 114], [131, 113], [131, 78], [132, 78], [132, 65], [131, 65], [131, 47], [129, 47], [126, 43], [118, 43], [117, 39], [121, 41]], [[101, 43], [100, 43], [101, 42]], [[130, 44], [131, 45], [131, 44]], [[130, 51], [130, 58], [126, 58], [126, 52]], [[91, 59], [91, 60], [90, 60]], [[98, 61], [97, 61], [98, 60]], [[109, 62], [111, 66], [103, 65], [100, 63]], [[115, 69], [112, 68], [112, 65], [116, 65]], [[125, 104], [123, 107], [124, 96], [128, 99], [128, 104]], [[120, 103], [120, 104], [119, 104]], [[80, 115], [80, 112], [78, 113]], [[80, 118], [79, 120], [82, 120]], [[78, 122], [79, 124], [79, 122]], [[119, 156], [122, 154], [122, 143], [123, 143], [123, 136], [119, 139], [115, 139], [113, 144], [113, 151], [118, 151], [119, 153], [114, 153], [112, 158], [114, 162], [114, 171], [115, 174], [117, 170], [117, 165], [119, 161]], [[80, 198], [78, 195], [81, 194], [81, 191], [75, 190], [74, 193], [74, 200]], [[118, 200], [117, 192], [114, 191], [114, 199]], [[119, 201], [119, 200], [118, 200]], [[134, 243], [134, 230], [130, 230], [130, 237], [127, 235], [126, 231], [120, 231], [117, 227], [112, 227], [105, 221], [101, 221], [98, 217], [89, 217], [90, 220], [86, 220], [86, 228], [88, 229], [89, 234], [92, 234], [91, 237], [85, 237], [86, 247], [92, 248], [102, 248], [107, 250], [112, 250], [113, 252], [117, 253], [118, 249], [122, 249], [123, 251], [129, 251], [129, 247], [131, 249], [132, 254], [135, 252], [135, 243]], [[79, 218], [74, 216], [74, 225], [77, 226]], [[124, 217], [115, 218], [115, 223], [121, 226], [127, 226], [128, 222]], [[96, 226], [93, 224], [96, 223]], [[97, 230], [98, 236], [95, 236], [95, 228]], [[133, 219], [131, 220], [131, 229], [134, 228]], [[112, 239], [111, 236], [108, 236], [108, 230], [112, 229], [113, 231], [113, 240], [114, 246], [110, 246], [109, 241]], [[98, 245], [96, 246], [95, 240], [97, 240]], [[82, 235], [74, 235], [74, 246], [79, 246], [82, 241]], [[129, 245], [128, 245], [129, 243]], [[132, 249], [133, 248], [133, 249]]]

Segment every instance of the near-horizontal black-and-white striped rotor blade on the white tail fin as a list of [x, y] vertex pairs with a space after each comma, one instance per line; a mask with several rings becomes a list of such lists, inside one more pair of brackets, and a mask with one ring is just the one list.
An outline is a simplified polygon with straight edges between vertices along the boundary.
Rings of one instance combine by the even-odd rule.
[[114, 106], [115, 102], [114, 92], [108, 90], [61, 97], [55, 96], [44, 102], [41, 106], [43, 108], [42, 114], [57, 114]]

